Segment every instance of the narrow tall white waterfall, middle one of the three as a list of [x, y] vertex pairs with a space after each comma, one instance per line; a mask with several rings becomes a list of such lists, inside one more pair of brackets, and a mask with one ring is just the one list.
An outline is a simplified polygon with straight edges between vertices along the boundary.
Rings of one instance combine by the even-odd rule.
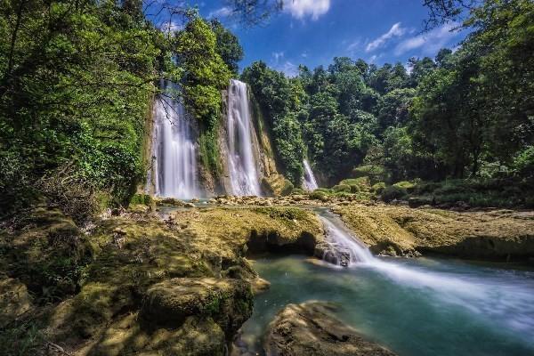
[[239, 80], [230, 82], [227, 119], [231, 193], [259, 196], [261, 190], [252, 143], [254, 131], [248, 109], [247, 85]]

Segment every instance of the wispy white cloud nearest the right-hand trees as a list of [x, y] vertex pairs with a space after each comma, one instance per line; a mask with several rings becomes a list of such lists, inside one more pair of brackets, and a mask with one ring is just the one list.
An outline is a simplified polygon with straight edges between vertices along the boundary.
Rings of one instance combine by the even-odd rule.
[[449, 41], [454, 36], [457, 36], [457, 31], [451, 31], [456, 27], [456, 23], [449, 23], [424, 34], [407, 38], [397, 44], [395, 54], [401, 55], [417, 48], [423, 48], [423, 53], [425, 54], [434, 54], [446, 44], [449, 44]]

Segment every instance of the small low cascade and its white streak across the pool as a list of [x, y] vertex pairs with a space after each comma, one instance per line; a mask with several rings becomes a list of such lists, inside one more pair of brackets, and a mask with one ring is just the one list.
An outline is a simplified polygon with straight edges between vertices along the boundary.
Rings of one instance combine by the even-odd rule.
[[531, 303], [534, 303], [530, 287], [514, 286], [503, 279], [481, 279], [475, 275], [433, 271], [379, 259], [346, 231], [338, 219], [321, 214], [321, 220], [328, 242], [341, 254], [349, 251], [349, 267], [376, 271], [403, 287], [433, 295], [441, 303], [455, 304], [485, 318], [495, 318], [506, 328], [534, 333], [534, 315], [525, 313], [532, 311]]

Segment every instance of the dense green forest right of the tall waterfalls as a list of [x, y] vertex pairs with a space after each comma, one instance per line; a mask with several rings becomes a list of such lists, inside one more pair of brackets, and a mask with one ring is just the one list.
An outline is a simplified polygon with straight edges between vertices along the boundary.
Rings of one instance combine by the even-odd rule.
[[242, 76], [295, 183], [305, 152], [329, 185], [354, 168], [386, 182], [531, 178], [532, 13], [528, 1], [486, 2], [456, 51], [410, 58], [408, 69], [336, 57], [297, 77], [261, 61]]

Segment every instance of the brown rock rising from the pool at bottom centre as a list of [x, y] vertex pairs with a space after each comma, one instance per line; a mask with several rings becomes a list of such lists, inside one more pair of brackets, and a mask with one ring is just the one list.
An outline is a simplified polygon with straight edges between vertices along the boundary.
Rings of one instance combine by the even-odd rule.
[[263, 347], [270, 356], [394, 356], [337, 320], [331, 303], [288, 304], [271, 322]]

